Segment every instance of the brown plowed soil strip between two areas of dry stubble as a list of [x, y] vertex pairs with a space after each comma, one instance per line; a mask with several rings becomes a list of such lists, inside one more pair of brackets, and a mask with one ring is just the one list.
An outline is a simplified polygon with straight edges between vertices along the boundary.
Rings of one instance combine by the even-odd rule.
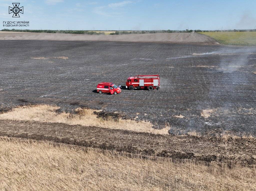
[[0, 120], [0, 136], [48, 140], [176, 159], [256, 164], [256, 140], [253, 138], [156, 135], [63, 123], [8, 120]]

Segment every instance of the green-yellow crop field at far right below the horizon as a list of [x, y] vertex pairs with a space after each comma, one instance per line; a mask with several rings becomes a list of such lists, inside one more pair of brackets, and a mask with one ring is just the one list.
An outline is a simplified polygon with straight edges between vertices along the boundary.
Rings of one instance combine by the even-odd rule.
[[256, 46], [256, 32], [199, 32], [221, 44]]

